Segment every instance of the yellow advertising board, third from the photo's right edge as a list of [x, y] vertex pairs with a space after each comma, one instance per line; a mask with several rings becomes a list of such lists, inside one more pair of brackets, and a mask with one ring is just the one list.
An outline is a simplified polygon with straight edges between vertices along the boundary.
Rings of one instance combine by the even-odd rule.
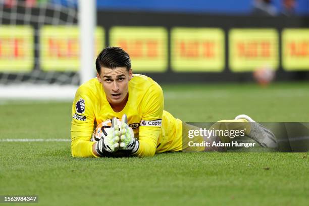
[[220, 28], [173, 28], [171, 67], [175, 72], [223, 71], [224, 31]]

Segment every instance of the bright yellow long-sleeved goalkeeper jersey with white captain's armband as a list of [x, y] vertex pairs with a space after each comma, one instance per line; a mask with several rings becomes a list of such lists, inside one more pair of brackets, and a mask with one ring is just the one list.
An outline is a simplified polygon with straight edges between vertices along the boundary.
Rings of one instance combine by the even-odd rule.
[[129, 81], [129, 97], [121, 112], [111, 108], [96, 78], [82, 84], [72, 106], [71, 151], [73, 157], [95, 157], [90, 141], [95, 126], [123, 114], [139, 140], [135, 155], [151, 157], [158, 152], [182, 149], [182, 122], [164, 111], [163, 91], [151, 78], [134, 74]]

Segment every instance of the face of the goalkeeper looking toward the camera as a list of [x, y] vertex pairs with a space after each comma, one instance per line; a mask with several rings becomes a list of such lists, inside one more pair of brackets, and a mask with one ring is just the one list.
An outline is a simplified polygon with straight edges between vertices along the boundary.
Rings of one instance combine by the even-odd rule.
[[115, 69], [101, 67], [101, 72], [96, 74], [96, 77], [103, 85], [106, 98], [112, 106], [125, 103], [129, 81], [132, 78], [131, 69], [127, 71], [125, 67], [116, 67]]

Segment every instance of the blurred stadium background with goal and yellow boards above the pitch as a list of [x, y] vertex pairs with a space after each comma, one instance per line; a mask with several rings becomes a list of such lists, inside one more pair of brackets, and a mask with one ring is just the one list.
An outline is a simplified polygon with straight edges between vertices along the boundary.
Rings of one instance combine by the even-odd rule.
[[108, 45], [158, 82], [309, 79], [309, 0], [80, 3], [0, 1], [0, 97], [72, 98]]

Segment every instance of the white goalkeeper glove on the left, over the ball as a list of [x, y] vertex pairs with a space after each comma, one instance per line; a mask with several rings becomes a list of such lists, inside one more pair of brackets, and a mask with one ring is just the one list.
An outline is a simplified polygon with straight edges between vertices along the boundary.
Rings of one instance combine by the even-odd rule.
[[116, 117], [112, 120], [112, 127], [108, 131], [107, 136], [102, 136], [101, 139], [96, 142], [95, 150], [99, 156], [104, 156], [107, 152], [115, 152], [119, 149], [120, 132], [117, 124]]

